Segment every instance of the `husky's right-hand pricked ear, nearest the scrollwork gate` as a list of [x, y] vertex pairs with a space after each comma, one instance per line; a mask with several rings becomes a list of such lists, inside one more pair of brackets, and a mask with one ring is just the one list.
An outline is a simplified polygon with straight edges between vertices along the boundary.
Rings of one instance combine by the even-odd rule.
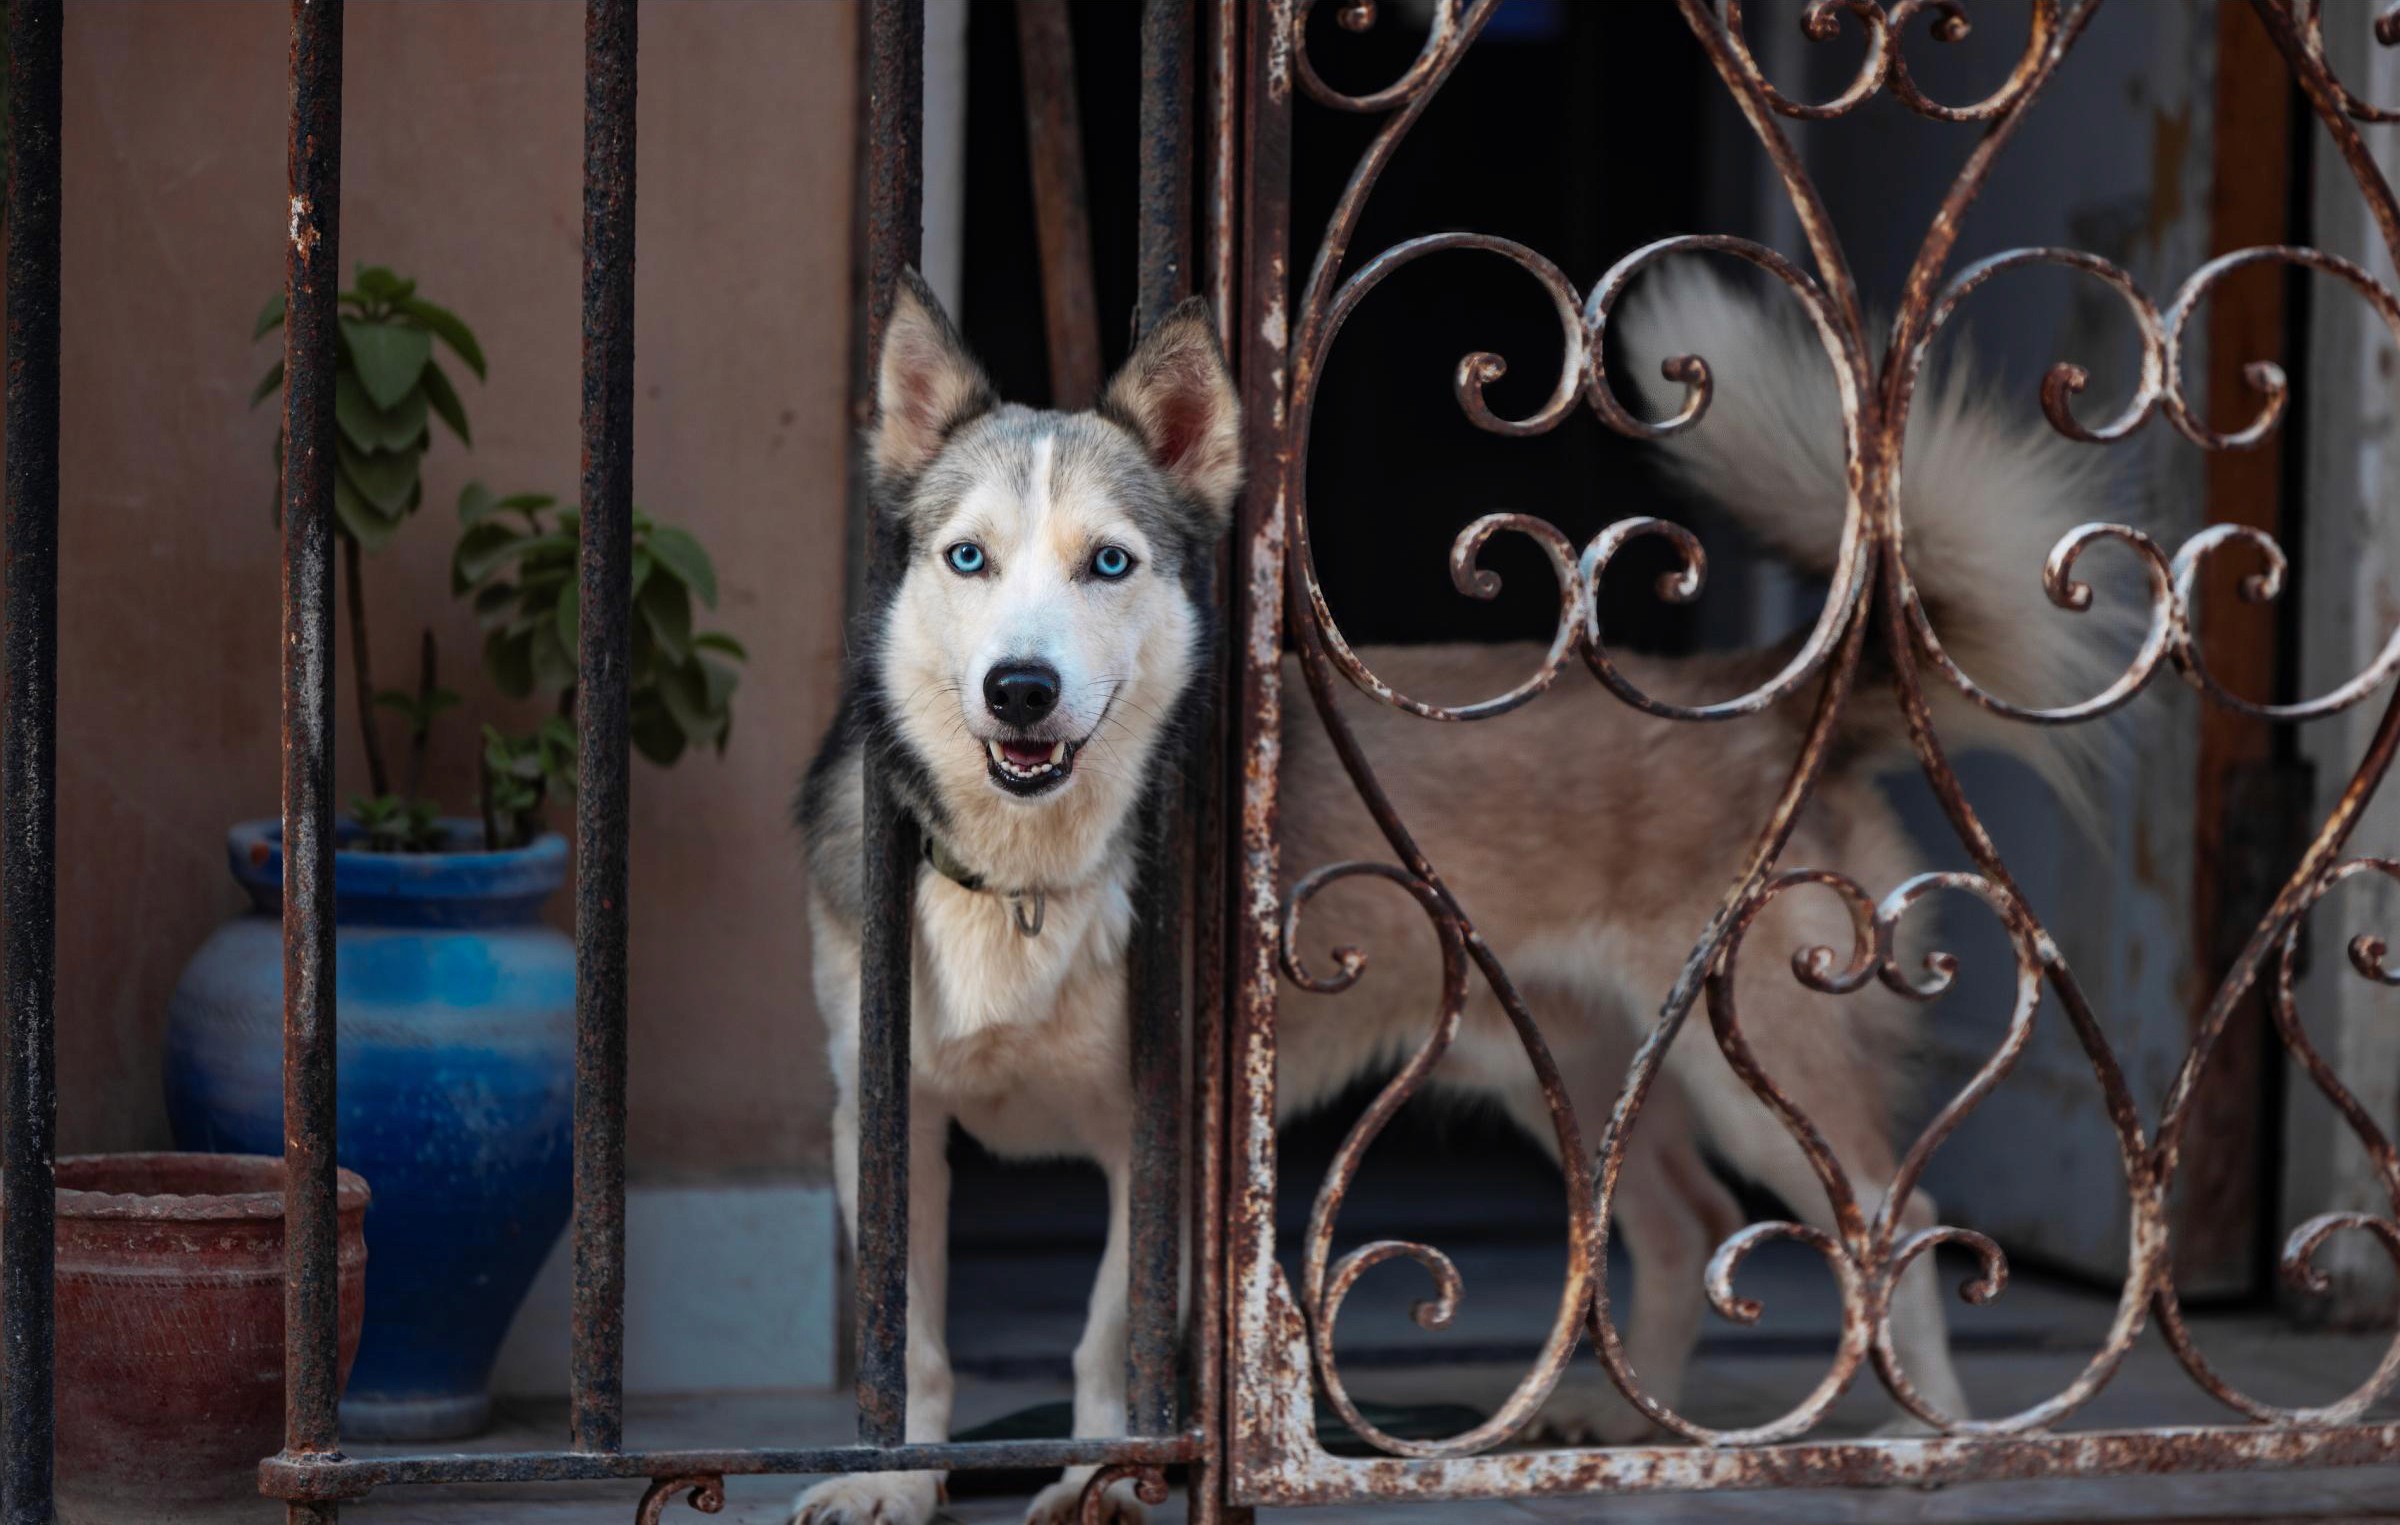
[[1226, 526], [1241, 492], [1241, 399], [1205, 300], [1186, 300], [1142, 336], [1099, 411], [1133, 430], [1212, 528]]

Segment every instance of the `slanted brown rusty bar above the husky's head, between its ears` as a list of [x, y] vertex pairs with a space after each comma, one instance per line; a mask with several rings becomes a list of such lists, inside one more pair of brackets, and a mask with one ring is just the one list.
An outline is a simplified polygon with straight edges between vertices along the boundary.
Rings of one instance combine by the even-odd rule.
[[1025, 74], [1051, 406], [1090, 408], [1099, 396], [1099, 298], [1092, 293], [1092, 214], [1082, 190], [1082, 110], [1075, 103], [1075, 31], [1066, 0], [1018, 0], [1018, 62]]

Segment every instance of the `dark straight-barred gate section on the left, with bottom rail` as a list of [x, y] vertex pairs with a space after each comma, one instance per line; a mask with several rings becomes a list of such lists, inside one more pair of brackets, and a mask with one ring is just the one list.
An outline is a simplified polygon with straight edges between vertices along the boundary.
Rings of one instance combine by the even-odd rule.
[[[7, 1525], [53, 1520], [53, 781], [58, 675], [58, 228], [60, 0], [10, 0], [7, 96], [7, 689], [0, 711], [0, 1342], [5, 1342]], [[283, 1158], [286, 1158], [286, 1443], [259, 1467], [293, 1525], [331, 1525], [341, 1501], [386, 1484], [650, 1479], [648, 1525], [674, 1499], [725, 1506], [727, 1475], [1020, 1470], [1099, 1465], [1092, 1499], [1118, 1479], [1164, 1499], [1166, 1465], [1207, 1463], [1176, 1410], [1176, 1194], [1181, 1186], [1183, 963], [1152, 941], [1138, 956], [1133, 1388], [1126, 1439], [907, 1443], [907, 896], [893, 874], [917, 860], [912, 826], [871, 819], [862, 1011], [859, 1443], [643, 1451], [624, 1443], [624, 1083], [626, 1083], [626, 797], [634, 451], [634, 103], [638, 0], [586, 0], [583, 67], [583, 536], [578, 552], [576, 788], [576, 1081], [571, 1422], [557, 1451], [350, 1458], [338, 1434], [338, 1222], [334, 1107], [334, 346], [341, 231], [343, 0], [293, 0], [286, 243], [283, 430]], [[1190, 0], [1147, 0], [1142, 17], [1142, 291], [1147, 317], [1188, 291]], [[914, 262], [922, 202], [922, 0], [862, 5], [859, 346]], [[852, 483], [857, 492], [857, 480]], [[871, 572], [886, 574], [888, 569]], [[869, 769], [874, 778], [874, 769]], [[878, 800], [874, 781], [869, 800]], [[1164, 812], [1157, 843], [1174, 841]], [[893, 857], [898, 855], [898, 857]], [[1181, 862], [1181, 860], [1176, 860]], [[881, 872], [881, 881], [876, 874]], [[1145, 925], [1181, 925], [1181, 874], [1140, 889]], [[794, 905], [797, 915], [797, 905]]]

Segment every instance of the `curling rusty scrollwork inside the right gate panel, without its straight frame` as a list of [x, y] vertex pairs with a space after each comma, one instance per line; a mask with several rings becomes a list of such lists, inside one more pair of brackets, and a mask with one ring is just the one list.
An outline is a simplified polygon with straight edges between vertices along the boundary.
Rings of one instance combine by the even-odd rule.
[[[2016, 53], [2009, 77], [1987, 96], [1968, 103], [1930, 98], [1908, 67], [1910, 36], [1920, 24], [1937, 43], [1956, 43], [1968, 34], [1966, 10], [1954, 0], [1898, 0], [1894, 5], [1884, 5], [1882, 0], [1812, 0], [1800, 17], [1805, 36], [1826, 41], [1843, 31], [1858, 31], [1865, 38], [1855, 74], [1826, 101], [1793, 101], [1766, 79], [1750, 50], [1740, 0], [1678, 0], [1714, 72], [1757, 132], [1766, 159], [1790, 197], [1807, 243], [1805, 267], [1742, 238], [1682, 235], [1632, 250], [1584, 293], [1550, 259], [1522, 243], [1483, 233], [1438, 233], [1397, 243], [1351, 269], [1349, 243], [1385, 166], [1474, 46], [1495, 2], [1440, 0], [1433, 7], [1433, 24], [1416, 58], [1397, 79], [1363, 94], [1334, 89], [1310, 60], [1310, 14], [1318, 10], [1315, 0], [1296, 0], [1284, 12], [1289, 14], [1284, 48], [1296, 89], [1325, 108], [1382, 118], [1380, 130], [1349, 175], [1313, 267], [1296, 295], [1289, 413], [1284, 418], [1289, 466], [1282, 476], [1282, 490], [1289, 504], [1284, 576], [1294, 593], [1291, 608], [1296, 610], [1296, 620], [1291, 639], [1298, 668], [1308, 682], [1315, 720], [1330, 735], [1351, 785], [1390, 843], [1397, 862], [1301, 865], [1310, 872], [1303, 872], [1282, 901], [1282, 968], [1301, 992], [1339, 992], [1356, 982], [1366, 953], [1339, 949], [1334, 953], [1337, 965], [1322, 973], [1303, 956], [1306, 908], [1325, 886], [1342, 879], [1375, 877], [1394, 884], [1426, 910], [1442, 946], [1442, 980], [1426, 1040], [1356, 1122], [1327, 1170], [1310, 1210], [1308, 1242], [1303, 1246], [1301, 1316], [1315, 1381], [1334, 1410], [1368, 1443], [1392, 1458], [1418, 1460], [1469, 1458], [1510, 1439], [1558, 1386], [1582, 1333], [1589, 1333], [1608, 1376], [1634, 1407], [1658, 1427], [1706, 1446], [1762, 1446], [1800, 1439], [1824, 1419], [1831, 1403], [1862, 1369], [1872, 1369], [1896, 1403], [1944, 1436], [2030, 1436], [2057, 1424], [2100, 1393], [2138, 1340], [2146, 1321], [2155, 1318], [2167, 1347], [2191, 1379], [2244, 1419], [2287, 1429], [2330, 1429], [2359, 1422], [2369, 1405], [2400, 1381], [2400, 1340], [2383, 1352], [2371, 1376], [2333, 1403], [2280, 1407], [2242, 1393], [2210, 1366], [2184, 1321], [2172, 1282], [2167, 1194], [2177, 1177], [2179, 1143], [2194, 1095], [2198, 1093], [2198, 1081], [2208, 1069], [2227, 1016], [2254, 985], [2266, 980], [2275, 1033], [2297, 1066], [2366, 1146], [2390, 1198], [2388, 1213], [2333, 1213], [2294, 1227], [2282, 1251], [2282, 1275], [2294, 1287], [2321, 1290], [2323, 1275], [2316, 1270], [2314, 1256], [2340, 1232], [2371, 1234], [2393, 1256], [2395, 1266], [2400, 1266], [2400, 1155], [2395, 1155], [2393, 1141], [2376, 1119], [2311, 1047], [2294, 1004], [2294, 961], [2302, 927], [2318, 903], [2359, 877], [2381, 874], [2400, 879], [2400, 862], [2345, 857], [2347, 838], [2366, 802], [2383, 783], [2386, 771], [2390, 771], [2393, 754], [2400, 752], [2400, 696], [2386, 708], [2340, 802], [2321, 824], [2316, 841], [2306, 848], [2218, 987], [2155, 1122], [2155, 1131], [2146, 1131], [2098, 1013], [2059, 953], [2057, 941], [2052, 941], [2040, 917], [2026, 903], [1975, 807], [1968, 802], [1958, 776], [1951, 771], [1930, 716], [1927, 692], [1934, 684], [1944, 684], [1985, 711], [2026, 725], [2081, 725], [2124, 708], [2160, 672], [2172, 670], [2208, 704], [2266, 720], [2297, 723], [2354, 708], [2390, 687], [2393, 677], [2400, 675], [2400, 629], [2393, 629], [2390, 639], [2362, 672], [2326, 694], [2294, 704], [2270, 704], [2234, 694], [2208, 670], [2198, 646], [2196, 605], [2201, 569], [2213, 555], [2246, 557], [2244, 564], [2251, 564], [2254, 572], [2239, 586], [2242, 598], [2254, 603], [2273, 600], [2282, 593], [2287, 574], [2282, 550], [2275, 540], [2246, 526], [2210, 526], [2170, 550], [2148, 533], [2124, 524], [2086, 524], [2066, 533], [2050, 550], [2047, 562], [2040, 567], [2042, 586], [2062, 617], [2090, 610], [2095, 591], [2076, 576], [2076, 567], [2100, 543], [2122, 548], [2138, 562], [2146, 581], [2148, 608], [2141, 639], [2126, 658], [2124, 670], [2090, 694], [2057, 706], [2002, 699], [1958, 665], [1922, 610], [1908, 562], [1903, 560], [1908, 526], [1901, 514], [1901, 476], [1906, 471], [1901, 444], [1934, 341], [1978, 288], [2021, 267], [2057, 267], [2098, 281], [2134, 319], [2141, 363], [2131, 399], [2112, 418], [2086, 420], [2076, 413], [2076, 399], [2088, 387], [2088, 375], [2081, 367], [2059, 363], [2042, 379], [2040, 403], [2050, 425], [2088, 444], [2124, 439], [2153, 418], [2165, 415], [2167, 427], [2194, 447], [2220, 451], [2256, 444], [2282, 423], [2290, 403], [2290, 382], [2273, 363], [2246, 367], [2244, 377], [2256, 391], [2258, 406], [2239, 427], [2213, 427], [2203, 418], [2198, 401], [2186, 391], [2184, 336], [2191, 317], [2239, 269], [2258, 264], [2294, 267], [2347, 286], [2393, 331], [2395, 341], [2400, 341], [2400, 298], [2371, 271], [2350, 259], [2282, 245], [2237, 250], [2201, 264], [2165, 305], [2155, 303], [2122, 267], [2098, 255], [2064, 247], [2011, 250], [1946, 274], [1963, 214], [1975, 202], [2026, 110], [2054, 79], [2076, 38], [2100, 10], [2100, 0], [2033, 0], [2023, 46]], [[2386, 247], [2400, 257], [2400, 199], [2395, 199], [2388, 178], [2369, 156], [2357, 130], [2357, 122], [2400, 120], [2400, 108], [2362, 101], [2330, 72], [2318, 0], [2254, 0], [2254, 5], [2290, 62], [2318, 122], [2352, 171]], [[1363, 31], [1378, 22], [1378, 7], [1373, 0], [1346, 0], [1339, 5], [1337, 19], [1349, 31]], [[2390, 7], [2376, 17], [2374, 29], [2378, 43], [2400, 46], [2400, 7]], [[1862, 317], [1846, 252], [1834, 235], [1824, 202], [1810, 183], [1783, 122], [1846, 115], [1886, 91], [1915, 115], [1942, 122], [1975, 122], [1982, 137], [1949, 185], [1939, 211], [1918, 245], [1889, 334], [1879, 334], [1870, 331]], [[1500, 694], [1462, 704], [1433, 704], [1404, 694], [1368, 668], [1361, 653], [1344, 639], [1318, 579], [1308, 514], [1306, 466], [1310, 415], [1325, 360], [1349, 317], [1385, 279], [1406, 264], [1457, 252], [1507, 262], [1541, 288], [1558, 315], [1558, 375], [1546, 401], [1522, 418], [1500, 415], [1486, 401], [1486, 389], [1507, 372], [1505, 358], [1478, 351], [1459, 360], [1454, 375], [1459, 408], [1471, 423], [1495, 435], [1548, 432], [1577, 413], [1579, 406], [1589, 406], [1601, 423], [1637, 439], [1668, 439], [1702, 420], [1711, 399], [1711, 375], [1704, 355], [1675, 355], [1666, 360], [1666, 377], [1682, 387], [1680, 406], [1666, 418], [1639, 418], [1627, 411], [1620, 403], [1615, 377], [1608, 375], [1606, 334], [1610, 317], [1634, 279], [1663, 259], [1692, 255], [1740, 259], [1764, 271], [1771, 291], [1781, 291], [1783, 298], [1798, 303], [1824, 348], [1838, 391], [1848, 507], [1824, 610], [1795, 644], [1783, 668], [1769, 680], [1726, 699], [1675, 704], [1644, 692], [1618, 668], [1601, 636], [1598, 620], [1601, 576], [1615, 555], [1637, 538], [1666, 540], [1680, 557], [1680, 567], [1658, 584], [1658, 596], [1668, 600], [1694, 598], [1706, 576], [1699, 540], [1678, 524], [1649, 516], [1620, 519], [1586, 545], [1574, 545], [1558, 526], [1529, 514], [1486, 514], [1457, 533], [1450, 545], [1450, 574], [1457, 591], [1469, 598], [1493, 598], [1498, 593], [1498, 576], [1481, 564], [1481, 555], [1502, 533], [1534, 540], [1558, 581], [1558, 617], [1541, 663]], [[1870, 624], [1877, 620], [1882, 622], [1879, 627]], [[1786, 867], [1781, 862], [1798, 812], [1826, 764], [1829, 740], [1841, 713], [1850, 704], [1872, 701], [1872, 696], [1853, 699], [1850, 694], [1870, 629], [1879, 629], [1884, 636], [1882, 644], [1891, 653], [1894, 699], [1908, 723], [1918, 764], [1975, 865], [1973, 872], [1918, 874], [1898, 886], [1889, 886], [1882, 898], [1870, 886], [1841, 874]], [[1682, 723], [1750, 716], [1771, 704], [1814, 692], [1814, 708], [1783, 790], [1766, 812], [1738, 877], [1726, 889], [1680, 977], [1666, 994], [1658, 1021], [1642, 1042], [1591, 1153], [1582, 1146], [1579, 1119], [1567, 1105], [1558, 1069], [1524, 999], [1498, 953], [1476, 932], [1476, 922], [1466, 908], [1442, 881], [1438, 865], [1418, 848], [1378, 781], [1373, 761], [1337, 706], [1337, 680], [1346, 680], [1368, 694], [1368, 699], [1397, 711], [1435, 723], [1474, 723], [1531, 704], [1577, 658], [1625, 704]], [[1735, 965], [1759, 915], [1786, 893], [1834, 896], [1848, 913], [1853, 946], [1846, 953], [1834, 949], [1800, 949], [1790, 953], [1793, 977], [1822, 994], [1843, 997], [1865, 989], [1870, 982], [1879, 982], [1918, 1001], [1939, 997], [1951, 982], [1954, 958], [1937, 951], [1927, 953], [1915, 968], [1908, 968], [1901, 956], [1903, 920], [1937, 893], [1980, 903], [1999, 920], [2014, 949], [2016, 994], [1999, 1047], [1925, 1124], [1879, 1201], [1860, 1198], [1834, 1150], [1817, 1131], [1817, 1124], [1759, 1066], [1742, 1033], [1733, 994]], [[2400, 985], [2400, 965], [2393, 961], [2390, 944], [2378, 934], [2359, 934], [2350, 944], [2350, 961], [2366, 980]], [[1334, 1359], [1334, 1323], [1344, 1297], [1361, 1273], [1385, 1261], [1406, 1258], [1416, 1261], [1433, 1278], [1435, 1294], [1418, 1304], [1418, 1323], [1438, 1328], [1452, 1316], [1462, 1297], [1459, 1270], [1430, 1244], [1375, 1242], [1342, 1258], [1332, 1256], [1332, 1244], [1344, 1194], [1361, 1160], [1392, 1114], [1423, 1088], [1428, 1074], [1457, 1035], [1471, 977], [1481, 977], [1490, 987], [1548, 1098], [1550, 1126], [1555, 1129], [1567, 1172], [1570, 1270], [1550, 1338], [1500, 1410], [1471, 1431], [1445, 1441], [1409, 1441], [1378, 1431], [1358, 1415]], [[2076, 1379], [2021, 1412], [1968, 1419], [1939, 1412], [1910, 1386], [1894, 1347], [1891, 1297], [1898, 1278], [1939, 1244], [1956, 1244], [1975, 1256], [1980, 1273], [1961, 1287], [1968, 1302], [1985, 1302], [2004, 1290], [2006, 1258], [1997, 1244], [1963, 1227], [1937, 1225], [1906, 1232], [1901, 1208], [1934, 1150], [2009, 1076], [2033, 1035], [2045, 992], [2078, 1037], [2117, 1134], [2131, 1203], [2131, 1254], [2114, 1321]], [[1740, 1323], [1757, 1321], [1762, 1309], [1735, 1294], [1735, 1273], [1757, 1246], [1771, 1239], [1795, 1239], [1812, 1246], [1831, 1266], [1834, 1280], [1841, 1287], [1843, 1333], [1834, 1362], [1798, 1405], [1750, 1429], [1709, 1429], [1644, 1393], [1618, 1338], [1606, 1275], [1615, 1189], [1627, 1158], [1630, 1134], [1639, 1126], [1644, 1098], [1658, 1078], [1668, 1047], [1685, 1028], [1694, 1006], [1702, 1004], [1714, 1040], [1733, 1071], [1776, 1114], [1807, 1155], [1834, 1206], [1836, 1225], [1834, 1232], [1822, 1232], [1800, 1222], [1759, 1222], [1726, 1239], [1706, 1268], [1709, 1302], [1723, 1316]], [[2033, 1463], [2028, 1460], [2028, 1465]]]

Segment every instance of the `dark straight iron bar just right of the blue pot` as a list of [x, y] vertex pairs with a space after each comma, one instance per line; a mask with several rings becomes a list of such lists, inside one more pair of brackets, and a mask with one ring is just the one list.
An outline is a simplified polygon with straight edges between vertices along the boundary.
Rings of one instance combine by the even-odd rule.
[[583, 10], [583, 533], [576, 555], [578, 1451], [624, 1443], [624, 941], [634, 663], [636, 0]]

